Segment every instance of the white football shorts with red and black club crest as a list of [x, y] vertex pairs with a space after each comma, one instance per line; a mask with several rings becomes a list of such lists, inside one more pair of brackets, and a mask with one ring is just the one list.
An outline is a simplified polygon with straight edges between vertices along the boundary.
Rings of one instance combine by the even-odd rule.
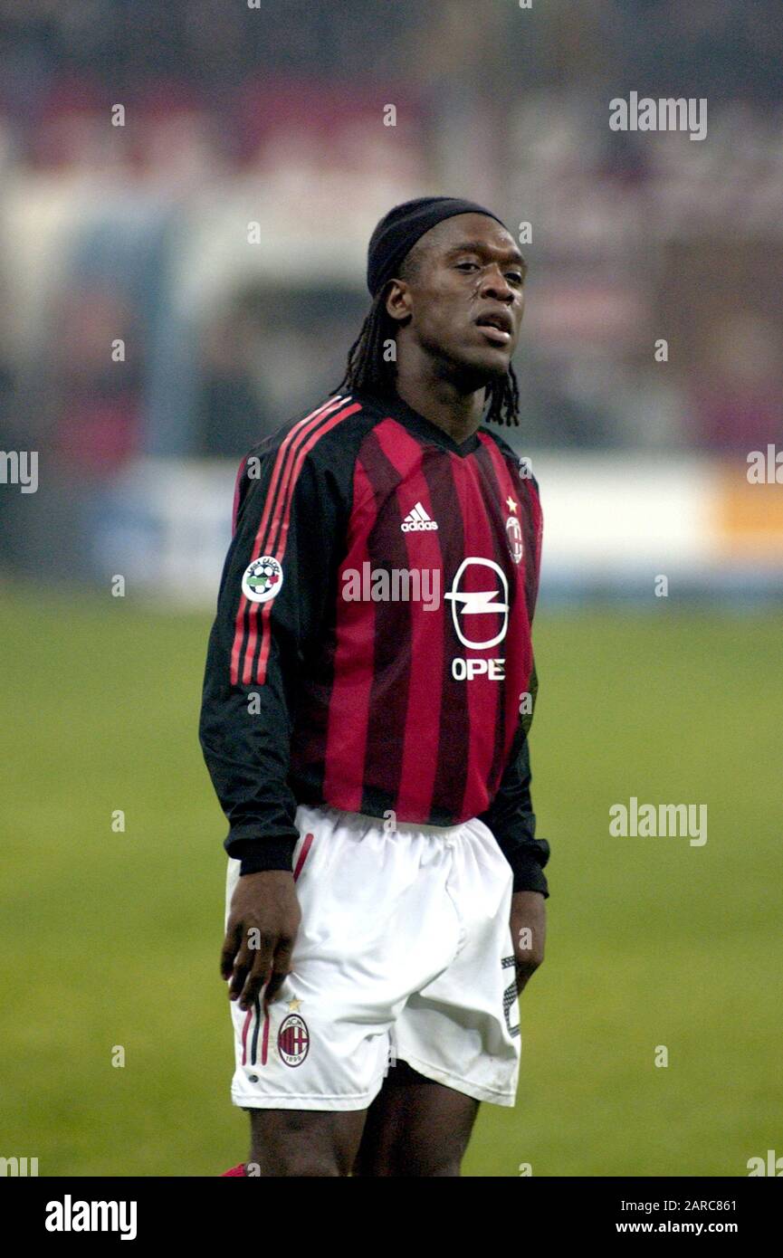
[[[292, 971], [263, 1014], [230, 1001], [243, 1108], [365, 1110], [397, 1060], [512, 1106], [520, 1062], [512, 874], [477, 819], [384, 830], [300, 805], [302, 921]], [[239, 878], [229, 857], [225, 923]]]

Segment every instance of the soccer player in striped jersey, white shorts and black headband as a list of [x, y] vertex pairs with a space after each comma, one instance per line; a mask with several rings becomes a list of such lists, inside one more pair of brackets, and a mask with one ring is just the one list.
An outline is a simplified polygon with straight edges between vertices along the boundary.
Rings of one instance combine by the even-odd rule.
[[515, 1102], [549, 894], [541, 511], [496, 430], [525, 270], [480, 205], [395, 206], [339, 390], [239, 469], [200, 722], [252, 1133], [227, 1174], [459, 1175], [480, 1102]]

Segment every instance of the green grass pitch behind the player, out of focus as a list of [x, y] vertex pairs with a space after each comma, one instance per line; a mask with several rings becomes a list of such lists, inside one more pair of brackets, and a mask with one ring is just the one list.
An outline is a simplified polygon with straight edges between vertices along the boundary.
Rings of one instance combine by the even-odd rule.
[[[40, 1175], [218, 1175], [247, 1154], [225, 825], [196, 738], [208, 629], [0, 590], [0, 1155]], [[746, 1175], [783, 1154], [780, 630], [673, 600], [538, 619], [548, 955], [517, 1105], [481, 1107], [466, 1175]], [[706, 804], [706, 844], [611, 838], [631, 795]]]

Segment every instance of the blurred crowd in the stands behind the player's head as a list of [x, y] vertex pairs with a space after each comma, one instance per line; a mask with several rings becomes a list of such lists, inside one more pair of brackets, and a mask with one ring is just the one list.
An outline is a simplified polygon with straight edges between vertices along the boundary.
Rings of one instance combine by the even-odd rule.
[[[783, 442], [782, 64], [779, 0], [0, 0], [0, 449], [63, 520], [238, 458], [336, 386], [423, 192], [530, 224], [520, 447]], [[632, 91], [707, 138], [613, 132]]]

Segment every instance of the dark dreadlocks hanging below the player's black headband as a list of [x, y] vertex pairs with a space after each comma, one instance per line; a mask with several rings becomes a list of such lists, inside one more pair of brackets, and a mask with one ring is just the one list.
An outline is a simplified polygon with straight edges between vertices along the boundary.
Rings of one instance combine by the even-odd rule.
[[[402, 276], [404, 278], [404, 274]], [[345, 375], [332, 392], [370, 392], [385, 396], [395, 391], [397, 366], [389, 356], [389, 341], [394, 341], [397, 322], [385, 306], [385, 286], [373, 298], [370, 312], [361, 325], [359, 336], [347, 351]], [[491, 424], [519, 425], [519, 384], [514, 367], [500, 380], [486, 386], [488, 403], [485, 420]]]

